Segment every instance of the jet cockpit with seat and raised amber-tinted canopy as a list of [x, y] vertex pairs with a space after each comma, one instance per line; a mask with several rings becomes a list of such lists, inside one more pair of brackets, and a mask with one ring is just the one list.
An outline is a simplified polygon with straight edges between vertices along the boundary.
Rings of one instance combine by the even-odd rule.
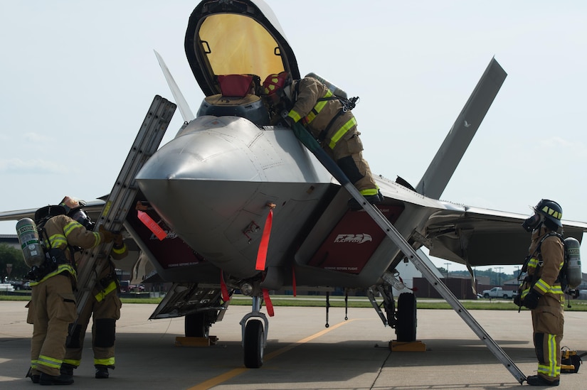
[[277, 18], [259, 0], [201, 2], [190, 16], [185, 50], [206, 94], [198, 117], [233, 115], [258, 126], [270, 124], [261, 82], [282, 71], [300, 77]]

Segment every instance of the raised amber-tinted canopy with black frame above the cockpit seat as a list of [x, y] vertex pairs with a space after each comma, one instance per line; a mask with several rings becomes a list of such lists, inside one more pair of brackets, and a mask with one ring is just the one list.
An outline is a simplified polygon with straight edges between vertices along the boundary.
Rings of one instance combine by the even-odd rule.
[[191, 13], [186, 56], [206, 96], [221, 93], [218, 75], [289, 72], [300, 77], [295, 55], [275, 14], [262, 0], [204, 0]]

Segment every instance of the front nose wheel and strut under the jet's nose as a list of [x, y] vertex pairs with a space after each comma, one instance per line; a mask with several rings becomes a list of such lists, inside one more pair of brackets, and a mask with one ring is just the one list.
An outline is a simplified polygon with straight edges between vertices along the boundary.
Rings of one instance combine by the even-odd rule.
[[247, 368], [263, 366], [263, 351], [267, 345], [269, 321], [265, 314], [260, 312], [260, 302], [260, 297], [254, 296], [253, 311], [240, 320], [243, 332], [244, 362]]

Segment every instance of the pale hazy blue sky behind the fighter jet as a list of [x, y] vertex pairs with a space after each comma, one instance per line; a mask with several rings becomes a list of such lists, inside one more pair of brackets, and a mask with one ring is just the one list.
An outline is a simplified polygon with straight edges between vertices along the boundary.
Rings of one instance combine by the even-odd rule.
[[[154, 95], [173, 101], [154, 50], [197, 112], [203, 93], [184, 53], [197, 3], [0, 2], [0, 210], [110, 193]], [[300, 73], [360, 97], [371, 170], [412, 185], [495, 57], [508, 76], [441, 199], [529, 215], [548, 198], [587, 222], [586, 2], [267, 3]], [[181, 123], [178, 110], [162, 145]], [[15, 224], [0, 222], [0, 234]]]

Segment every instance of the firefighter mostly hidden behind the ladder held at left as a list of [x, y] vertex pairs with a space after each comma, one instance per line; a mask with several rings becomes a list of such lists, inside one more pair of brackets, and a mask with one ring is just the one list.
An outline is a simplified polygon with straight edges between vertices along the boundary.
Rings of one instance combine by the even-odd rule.
[[[80, 204], [81, 203], [81, 204]], [[61, 203], [68, 215], [83, 224], [87, 229], [93, 229], [93, 222], [83, 210], [83, 202], [71, 197], [65, 197]], [[92, 296], [88, 298], [83, 311], [78, 318], [78, 324], [71, 330], [70, 342], [61, 365], [61, 374], [73, 376], [73, 369], [78, 368], [82, 359], [85, 330], [93, 316], [92, 350], [94, 352], [95, 377], [107, 379], [108, 369], [115, 368], [115, 327], [120, 318], [122, 303], [118, 298], [120, 285], [115, 273], [112, 259], [120, 260], [128, 254], [122, 235], [116, 234], [114, 245], [110, 251], [110, 261], [98, 273], [96, 285], [92, 289]]]

